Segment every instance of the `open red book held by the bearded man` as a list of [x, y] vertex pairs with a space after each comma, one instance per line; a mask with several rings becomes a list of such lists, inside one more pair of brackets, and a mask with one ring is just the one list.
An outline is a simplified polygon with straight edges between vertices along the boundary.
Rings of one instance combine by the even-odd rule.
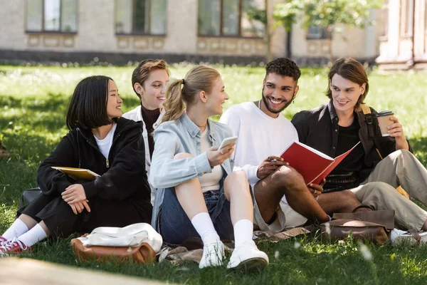
[[[354, 147], [359, 145], [359, 143], [360, 142], [357, 142]], [[307, 185], [310, 183], [320, 184], [323, 178], [327, 177], [354, 147], [347, 150], [347, 152], [344, 152], [342, 155], [332, 158], [319, 150], [315, 150], [302, 142], [294, 140], [280, 157], [282, 157], [285, 162], [288, 162], [290, 166], [294, 167], [297, 172], [300, 172], [300, 175], [304, 177]]]

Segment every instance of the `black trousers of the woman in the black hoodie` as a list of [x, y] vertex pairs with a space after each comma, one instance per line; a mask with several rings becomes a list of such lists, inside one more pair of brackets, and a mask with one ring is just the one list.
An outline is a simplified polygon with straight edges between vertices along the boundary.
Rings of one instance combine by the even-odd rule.
[[51, 237], [68, 237], [75, 232], [92, 232], [96, 227], [126, 227], [139, 222], [151, 222], [152, 205], [127, 202], [122, 200], [105, 200], [93, 197], [88, 202], [90, 212], [74, 214], [70, 205], [62, 197], [38, 195], [26, 207], [18, 210], [37, 222], [43, 221], [51, 232]]

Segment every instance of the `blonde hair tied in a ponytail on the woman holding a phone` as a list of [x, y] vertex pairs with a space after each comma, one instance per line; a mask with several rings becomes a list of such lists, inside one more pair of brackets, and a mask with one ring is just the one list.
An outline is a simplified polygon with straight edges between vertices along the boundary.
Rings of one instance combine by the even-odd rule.
[[[166, 100], [163, 102], [165, 113], [162, 123], [181, 117], [184, 113], [185, 105], [194, 103], [200, 91], [211, 93], [214, 83], [220, 76], [214, 68], [196, 66], [186, 73], [184, 79], [172, 80], [166, 89]], [[181, 84], [183, 84], [182, 87]]]

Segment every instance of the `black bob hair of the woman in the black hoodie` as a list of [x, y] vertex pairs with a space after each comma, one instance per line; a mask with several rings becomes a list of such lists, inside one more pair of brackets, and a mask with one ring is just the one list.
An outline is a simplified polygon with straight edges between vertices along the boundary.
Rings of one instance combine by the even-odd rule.
[[91, 129], [109, 125], [107, 115], [108, 76], [90, 76], [75, 86], [67, 112], [67, 127]]

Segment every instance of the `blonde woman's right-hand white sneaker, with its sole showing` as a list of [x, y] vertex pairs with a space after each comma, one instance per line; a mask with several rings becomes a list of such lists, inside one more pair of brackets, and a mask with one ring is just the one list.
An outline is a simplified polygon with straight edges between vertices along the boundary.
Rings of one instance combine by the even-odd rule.
[[241, 244], [234, 249], [228, 261], [228, 269], [243, 269], [245, 271], [260, 271], [268, 265], [268, 256], [256, 247], [253, 240]]

